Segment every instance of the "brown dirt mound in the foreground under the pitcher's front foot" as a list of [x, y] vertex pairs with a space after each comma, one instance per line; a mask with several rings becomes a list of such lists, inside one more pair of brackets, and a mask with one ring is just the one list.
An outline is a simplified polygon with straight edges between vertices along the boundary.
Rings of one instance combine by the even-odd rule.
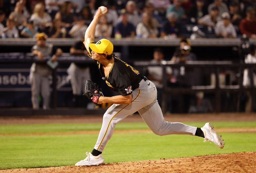
[[256, 152], [230, 153], [205, 155], [195, 157], [184, 157], [174, 159], [160, 159], [149, 161], [131, 161], [120, 163], [108, 163], [91, 167], [50, 167], [34, 169], [6, 169], [1, 173], [9, 172], [44, 172], [44, 173], [80, 173], [80, 172], [255, 172]]

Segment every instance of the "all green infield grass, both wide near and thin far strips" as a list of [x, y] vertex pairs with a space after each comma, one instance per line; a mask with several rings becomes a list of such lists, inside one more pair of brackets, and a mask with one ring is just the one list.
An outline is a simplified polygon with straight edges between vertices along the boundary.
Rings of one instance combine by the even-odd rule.
[[[204, 125], [203, 122], [187, 122]], [[256, 122], [212, 122], [215, 127], [256, 127]], [[98, 130], [101, 123], [1, 125], [0, 133]], [[145, 123], [119, 123], [116, 129], [148, 129]], [[224, 149], [189, 135], [114, 133], [103, 157], [106, 162], [139, 161], [195, 155], [256, 151], [256, 133], [220, 133]], [[92, 151], [98, 134], [0, 136], [0, 169], [74, 165]]]

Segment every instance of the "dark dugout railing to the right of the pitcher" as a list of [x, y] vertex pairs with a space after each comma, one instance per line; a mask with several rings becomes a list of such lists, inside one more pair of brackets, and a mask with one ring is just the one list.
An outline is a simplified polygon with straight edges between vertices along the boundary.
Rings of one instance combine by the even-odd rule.
[[[138, 68], [147, 68], [148, 66], [161, 66], [163, 70], [163, 88], [162, 88], [162, 111], [166, 113], [167, 111], [167, 97], [172, 95], [180, 95], [180, 94], [196, 94], [196, 92], [202, 91], [204, 93], [212, 93], [214, 94], [215, 100], [215, 109], [214, 112], [221, 112], [221, 94], [224, 92], [236, 93], [237, 96], [241, 96], [242, 92], [248, 91], [251, 96], [255, 96], [256, 87], [253, 85], [253, 68], [255, 69], [256, 64], [245, 64], [245, 63], [233, 63], [232, 61], [188, 61], [185, 64], [174, 64], [170, 61], [164, 61], [161, 65], [152, 65], [149, 62], [141, 61], [135, 62], [135, 67]], [[189, 88], [177, 88], [177, 87], [169, 87], [167, 82], [167, 73], [166, 67], [179, 68], [179, 67], [189, 67], [189, 68], [199, 68], [203, 71], [211, 70], [215, 75], [215, 85], [198, 85], [191, 86]], [[248, 68], [249, 70], [249, 78], [250, 78], [250, 86], [243, 86], [243, 72], [244, 69]], [[223, 70], [235, 70], [237, 71], [237, 84], [236, 85], [220, 85], [219, 74]], [[195, 76], [196, 77], [196, 76]], [[255, 104], [255, 97], [252, 97], [252, 105]], [[237, 101], [236, 112], [239, 112], [240, 102]]]

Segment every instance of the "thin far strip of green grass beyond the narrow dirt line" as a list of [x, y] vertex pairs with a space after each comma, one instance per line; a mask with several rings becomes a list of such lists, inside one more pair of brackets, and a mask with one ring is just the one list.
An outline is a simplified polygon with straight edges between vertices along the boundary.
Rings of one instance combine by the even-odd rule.
[[[202, 127], [205, 122], [183, 122], [185, 124]], [[239, 128], [256, 127], [256, 122], [211, 122], [215, 127]], [[0, 125], [0, 134], [11, 133], [45, 133], [45, 132], [67, 132], [80, 130], [100, 130], [101, 123], [62, 123], [62, 124], [19, 124]], [[145, 122], [120, 122], [116, 130], [149, 129]]]

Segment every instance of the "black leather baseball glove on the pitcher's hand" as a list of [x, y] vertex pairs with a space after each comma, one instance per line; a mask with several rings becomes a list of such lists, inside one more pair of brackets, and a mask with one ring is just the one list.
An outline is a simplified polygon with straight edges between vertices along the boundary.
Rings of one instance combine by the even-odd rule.
[[85, 83], [85, 93], [84, 93], [90, 101], [94, 103], [95, 106], [99, 106], [99, 98], [103, 96], [102, 89], [99, 88], [99, 85], [96, 83], [87, 80]]

